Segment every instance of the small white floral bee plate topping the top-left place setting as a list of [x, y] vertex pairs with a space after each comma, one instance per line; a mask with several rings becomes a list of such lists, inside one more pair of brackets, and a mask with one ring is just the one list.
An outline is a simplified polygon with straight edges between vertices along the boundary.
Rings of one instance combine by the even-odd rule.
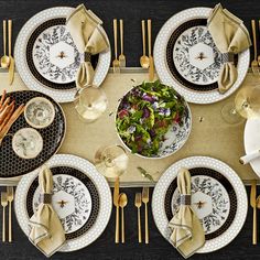
[[53, 83], [75, 80], [80, 54], [65, 25], [51, 26], [39, 35], [33, 46], [33, 63], [37, 72]]

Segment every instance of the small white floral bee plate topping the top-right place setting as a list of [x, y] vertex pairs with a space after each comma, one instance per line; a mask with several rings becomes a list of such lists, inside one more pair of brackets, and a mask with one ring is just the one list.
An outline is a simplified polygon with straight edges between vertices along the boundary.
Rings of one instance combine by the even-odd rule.
[[199, 25], [180, 35], [173, 48], [173, 61], [177, 72], [186, 80], [207, 85], [217, 82], [223, 55], [207, 28]]

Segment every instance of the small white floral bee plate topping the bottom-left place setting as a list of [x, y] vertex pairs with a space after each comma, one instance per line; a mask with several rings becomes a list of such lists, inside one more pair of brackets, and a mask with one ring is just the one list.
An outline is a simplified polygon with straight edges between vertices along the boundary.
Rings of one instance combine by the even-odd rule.
[[[53, 176], [53, 181], [52, 205], [59, 216], [65, 234], [74, 232], [82, 228], [90, 216], [91, 197], [89, 191], [78, 178], [71, 175], [57, 174]], [[37, 187], [33, 196], [33, 210], [36, 210], [39, 205], [40, 188]]]

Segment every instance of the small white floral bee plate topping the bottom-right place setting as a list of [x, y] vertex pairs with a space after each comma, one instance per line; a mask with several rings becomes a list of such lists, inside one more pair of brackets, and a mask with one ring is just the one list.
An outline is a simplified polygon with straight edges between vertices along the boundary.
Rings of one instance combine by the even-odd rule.
[[[178, 209], [180, 199], [180, 193], [175, 189], [172, 197], [173, 215]], [[212, 234], [219, 229], [228, 218], [229, 195], [216, 178], [205, 175], [192, 176], [192, 208], [198, 217], [203, 217], [205, 234]]]

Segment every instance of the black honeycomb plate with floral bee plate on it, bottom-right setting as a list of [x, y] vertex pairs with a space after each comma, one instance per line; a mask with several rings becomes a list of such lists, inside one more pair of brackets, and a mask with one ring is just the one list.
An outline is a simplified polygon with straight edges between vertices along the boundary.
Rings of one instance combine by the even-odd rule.
[[[237, 196], [230, 182], [220, 173], [207, 167], [189, 169], [192, 175], [192, 207], [202, 219], [206, 240], [224, 234], [235, 219]], [[166, 191], [164, 208], [171, 220], [180, 205], [177, 178]]]

